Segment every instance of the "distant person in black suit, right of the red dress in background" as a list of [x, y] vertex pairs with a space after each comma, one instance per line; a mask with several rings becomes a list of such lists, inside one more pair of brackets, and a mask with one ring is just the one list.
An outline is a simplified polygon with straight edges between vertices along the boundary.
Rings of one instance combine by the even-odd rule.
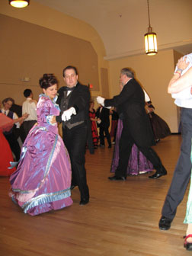
[[96, 117], [101, 120], [101, 123], [98, 123], [99, 127], [99, 136], [100, 136], [100, 146], [104, 146], [104, 134], [107, 137], [108, 148], [111, 148], [111, 141], [110, 141], [110, 133], [109, 133], [109, 126], [110, 126], [110, 110], [106, 107], [98, 107], [96, 111]]

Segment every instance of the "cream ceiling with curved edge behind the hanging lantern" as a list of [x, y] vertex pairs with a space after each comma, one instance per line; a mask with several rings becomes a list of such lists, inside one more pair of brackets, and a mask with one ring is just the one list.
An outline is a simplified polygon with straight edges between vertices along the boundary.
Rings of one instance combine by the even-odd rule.
[[[108, 59], [143, 52], [144, 34], [149, 26], [147, 0], [31, 1], [78, 18], [94, 27], [104, 42]], [[174, 48], [183, 54], [191, 53], [192, 33], [187, 33], [186, 38], [186, 32], [179, 26], [192, 21], [188, 20], [188, 17], [192, 18], [192, 0], [149, 0], [149, 10], [151, 25], [158, 35], [158, 49]], [[185, 15], [179, 19], [181, 13]], [[171, 34], [175, 27], [178, 30]]]

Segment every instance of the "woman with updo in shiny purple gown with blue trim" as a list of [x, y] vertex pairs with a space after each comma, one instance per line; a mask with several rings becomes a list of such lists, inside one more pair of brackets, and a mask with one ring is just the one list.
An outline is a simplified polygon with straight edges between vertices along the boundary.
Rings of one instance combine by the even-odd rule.
[[56, 104], [57, 80], [45, 74], [40, 87], [43, 94], [37, 103], [37, 124], [25, 139], [17, 171], [10, 178], [10, 197], [32, 216], [72, 204], [69, 153], [57, 123], [53, 123], [60, 111]]

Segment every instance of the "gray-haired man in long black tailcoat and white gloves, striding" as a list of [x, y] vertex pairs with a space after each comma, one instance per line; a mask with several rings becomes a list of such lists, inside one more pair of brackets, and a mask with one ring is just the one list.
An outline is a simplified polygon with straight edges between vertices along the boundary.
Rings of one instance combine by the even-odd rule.
[[123, 88], [119, 95], [113, 99], [105, 100], [100, 96], [98, 103], [104, 107], [117, 107], [119, 114], [123, 115], [123, 130], [120, 137], [119, 165], [110, 180], [126, 180], [126, 167], [130, 158], [133, 144], [152, 162], [156, 172], [149, 178], [160, 178], [166, 175], [162, 162], [156, 152], [151, 148], [155, 145], [152, 126], [145, 110], [145, 96], [142, 87], [134, 79], [130, 69], [121, 69], [120, 86]]

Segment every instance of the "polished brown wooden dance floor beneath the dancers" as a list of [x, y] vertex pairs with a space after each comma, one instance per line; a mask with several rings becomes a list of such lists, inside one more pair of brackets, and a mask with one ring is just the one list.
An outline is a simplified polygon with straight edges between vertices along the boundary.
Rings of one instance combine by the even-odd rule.
[[94, 155], [87, 152], [90, 203], [79, 206], [75, 188], [72, 206], [40, 216], [22, 213], [8, 197], [8, 178], [0, 178], [0, 255], [189, 255], [183, 247], [187, 193], [171, 229], [158, 229], [180, 145], [181, 136], [172, 135], [154, 147], [168, 170], [168, 175], [158, 180], [142, 174], [126, 181], [109, 181], [113, 149], [97, 149]]

